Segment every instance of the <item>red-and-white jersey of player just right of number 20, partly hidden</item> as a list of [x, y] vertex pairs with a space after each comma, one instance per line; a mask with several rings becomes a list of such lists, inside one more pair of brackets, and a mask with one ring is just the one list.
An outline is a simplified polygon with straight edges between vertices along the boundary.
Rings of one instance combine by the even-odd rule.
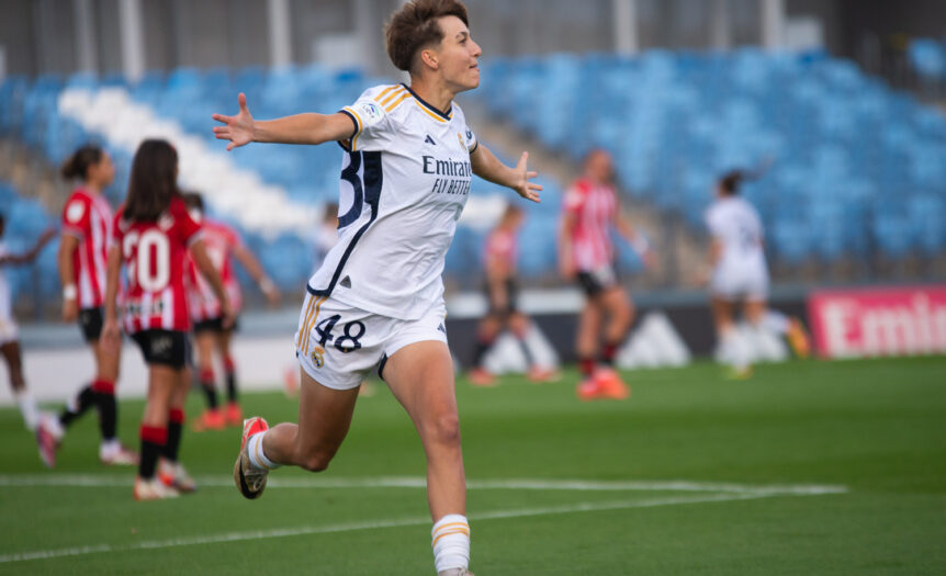
[[[203, 222], [203, 240], [207, 256], [214, 268], [221, 274], [224, 290], [229, 297], [234, 312], [239, 312], [241, 294], [239, 282], [233, 267], [233, 251], [243, 246], [239, 233], [222, 222], [205, 219]], [[211, 283], [198, 271], [198, 267], [188, 252], [188, 303], [191, 310], [191, 319], [194, 321], [209, 320], [221, 316], [221, 303], [214, 294]]]

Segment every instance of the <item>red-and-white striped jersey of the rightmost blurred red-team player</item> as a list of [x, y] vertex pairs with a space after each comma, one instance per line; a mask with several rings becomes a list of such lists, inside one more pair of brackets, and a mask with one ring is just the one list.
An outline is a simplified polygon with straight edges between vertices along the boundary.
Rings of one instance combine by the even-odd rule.
[[613, 263], [610, 228], [617, 216], [617, 196], [610, 185], [578, 179], [565, 193], [565, 214], [575, 219], [572, 253], [582, 272]]

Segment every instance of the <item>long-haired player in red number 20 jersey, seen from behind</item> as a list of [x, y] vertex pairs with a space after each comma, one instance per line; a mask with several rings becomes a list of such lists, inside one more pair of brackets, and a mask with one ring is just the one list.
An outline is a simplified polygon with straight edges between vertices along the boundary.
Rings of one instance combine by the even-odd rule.
[[[201, 225], [188, 213], [177, 187], [178, 155], [165, 140], [145, 140], [135, 153], [128, 195], [112, 228], [105, 287], [105, 349], [117, 351], [119, 274], [124, 262], [126, 289], [122, 302], [124, 331], [140, 347], [148, 364], [148, 396], [142, 418], [142, 458], [135, 479], [135, 499], [170, 498], [194, 489], [193, 481], [178, 462], [184, 421], [184, 400], [190, 388], [190, 342], [184, 292], [184, 256], [194, 262], [221, 302], [224, 326], [233, 320], [229, 300], [219, 274], [207, 257]], [[155, 475], [158, 458], [167, 486]]]

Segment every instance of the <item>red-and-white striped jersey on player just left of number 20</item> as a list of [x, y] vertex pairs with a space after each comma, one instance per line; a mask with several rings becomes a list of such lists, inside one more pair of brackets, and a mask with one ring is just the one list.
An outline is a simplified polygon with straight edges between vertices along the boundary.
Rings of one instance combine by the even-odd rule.
[[63, 208], [63, 233], [79, 239], [72, 252], [72, 281], [80, 308], [98, 308], [105, 297], [112, 207], [101, 194], [79, 188]]

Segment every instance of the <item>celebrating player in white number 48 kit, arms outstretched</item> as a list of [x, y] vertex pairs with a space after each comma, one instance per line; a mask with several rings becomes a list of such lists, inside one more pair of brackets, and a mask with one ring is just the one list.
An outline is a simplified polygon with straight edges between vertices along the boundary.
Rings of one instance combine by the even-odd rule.
[[[322, 144], [348, 154], [339, 241], [308, 281], [300, 315], [299, 425], [244, 425], [234, 479], [258, 497], [267, 474], [289, 464], [322, 471], [351, 421], [359, 384], [379, 369], [420, 434], [437, 572], [468, 574], [470, 528], [454, 396], [443, 328], [444, 256], [473, 173], [538, 202], [528, 155], [509, 168], [466, 126], [453, 99], [480, 83], [480, 46], [457, 0], [405, 3], [386, 26], [387, 54], [410, 86], [380, 86], [336, 114], [258, 122], [239, 95], [239, 113], [214, 115], [228, 148], [250, 142]], [[347, 206], [347, 207], [346, 207]]]

